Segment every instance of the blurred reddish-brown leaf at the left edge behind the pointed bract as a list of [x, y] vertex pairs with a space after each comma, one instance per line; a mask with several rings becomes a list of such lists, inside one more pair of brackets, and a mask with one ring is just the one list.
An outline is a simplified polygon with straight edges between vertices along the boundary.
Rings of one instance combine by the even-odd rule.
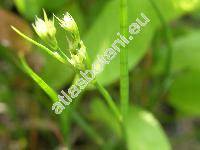
[[13, 25], [30, 36], [32, 32], [28, 24], [18, 16], [2, 9], [0, 9], [0, 18], [0, 44], [17, 52], [24, 53], [29, 51], [31, 44], [15, 33], [10, 27]]

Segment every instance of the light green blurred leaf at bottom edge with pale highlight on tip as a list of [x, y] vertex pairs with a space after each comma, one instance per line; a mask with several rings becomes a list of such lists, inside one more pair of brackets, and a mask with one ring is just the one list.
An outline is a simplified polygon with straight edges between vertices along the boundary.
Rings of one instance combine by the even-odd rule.
[[149, 112], [131, 108], [125, 122], [129, 150], [170, 150], [159, 122]]

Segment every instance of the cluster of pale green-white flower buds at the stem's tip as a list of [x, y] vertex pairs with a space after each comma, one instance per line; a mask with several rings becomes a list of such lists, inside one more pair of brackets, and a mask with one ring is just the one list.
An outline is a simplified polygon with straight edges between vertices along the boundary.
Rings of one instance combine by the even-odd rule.
[[[68, 43], [68, 49], [70, 52], [70, 58], [60, 50], [58, 42], [56, 40], [56, 27], [54, 25], [54, 17], [59, 21], [60, 26], [65, 30], [66, 41]], [[86, 60], [86, 47], [80, 40], [80, 34], [75, 20], [69, 13], [64, 14], [60, 19], [57, 16], [53, 16], [53, 20], [49, 20], [46, 12], [44, 11], [44, 20], [36, 17], [33, 28], [37, 35], [47, 43], [52, 49], [59, 50], [60, 56], [67, 59], [67, 61], [78, 70], [85, 69]], [[55, 52], [57, 53], [57, 52]]]

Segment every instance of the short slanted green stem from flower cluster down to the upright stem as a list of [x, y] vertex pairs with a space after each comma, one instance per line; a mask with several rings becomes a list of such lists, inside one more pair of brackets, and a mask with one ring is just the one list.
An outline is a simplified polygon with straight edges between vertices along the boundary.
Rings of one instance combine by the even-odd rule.
[[99, 90], [101, 95], [105, 98], [106, 102], [108, 103], [108, 106], [111, 108], [111, 110], [113, 111], [116, 118], [119, 120], [119, 122], [121, 122], [122, 116], [121, 116], [120, 111], [117, 108], [115, 102], [113, 101], [112, 97], [110, 96], [110, 94], [107, 92], [107, 90], [99, 82], [94, 81], [94, 85]]

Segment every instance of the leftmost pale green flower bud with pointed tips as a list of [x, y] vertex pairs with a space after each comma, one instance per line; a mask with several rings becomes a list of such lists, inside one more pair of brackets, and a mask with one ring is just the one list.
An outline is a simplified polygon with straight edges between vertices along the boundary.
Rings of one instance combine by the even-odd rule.
[[37, 35], [45, 41], [53, 49], [57, 49], [56, 28], [54, 26], [54, 19], [49, 20], [44, 11], [44, 20], [36, 17], [33, 28]]

